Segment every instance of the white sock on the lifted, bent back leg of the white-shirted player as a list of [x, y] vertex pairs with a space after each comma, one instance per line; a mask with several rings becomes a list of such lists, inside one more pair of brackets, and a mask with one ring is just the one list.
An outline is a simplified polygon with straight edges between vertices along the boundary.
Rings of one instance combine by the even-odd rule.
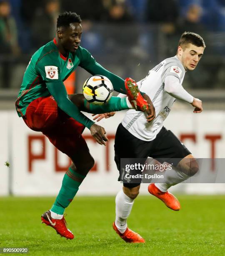
[[168, 188], [183, 182], [188, 178], [190, 178], [190, 176], [181, 171], [175, 169], [166, 170], [163, 177], [163, 182], [155, 183], [155, 187], [158, 187], [158, 189], [160, 189], [162, 192], [167, 192]]

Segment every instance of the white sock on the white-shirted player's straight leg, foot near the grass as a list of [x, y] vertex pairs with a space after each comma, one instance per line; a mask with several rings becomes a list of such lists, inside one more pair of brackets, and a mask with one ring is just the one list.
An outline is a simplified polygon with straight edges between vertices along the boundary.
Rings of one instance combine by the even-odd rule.
[[123, 190], [120, 190], [115, 198], [116, 203], [116, 218], [115, 225], [120, 231], [120, 233], [124, 233], [127, 229], [127, 218], [130, 215], [134, 199], [131, 199]]

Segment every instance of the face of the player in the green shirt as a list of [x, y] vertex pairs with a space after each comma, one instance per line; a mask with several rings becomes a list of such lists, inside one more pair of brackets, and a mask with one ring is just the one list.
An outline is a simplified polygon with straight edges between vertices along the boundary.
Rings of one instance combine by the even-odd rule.
[[62, 32], [62, 45], [66, 51], [75, 52], [80, 45], [82, 27], [80, 23], [70, 23], [70, 26]]

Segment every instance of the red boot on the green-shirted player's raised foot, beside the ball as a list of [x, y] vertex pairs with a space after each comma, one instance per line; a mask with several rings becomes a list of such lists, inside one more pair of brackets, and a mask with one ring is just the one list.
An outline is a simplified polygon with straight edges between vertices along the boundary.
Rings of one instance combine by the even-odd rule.
[[138, 85], [132, 78], [125, 79], [125, 88], [127, 90], [128, 99], [135, 110], [145, 112], [148, 110], [148, 102], [142, 97], [138, 89]]

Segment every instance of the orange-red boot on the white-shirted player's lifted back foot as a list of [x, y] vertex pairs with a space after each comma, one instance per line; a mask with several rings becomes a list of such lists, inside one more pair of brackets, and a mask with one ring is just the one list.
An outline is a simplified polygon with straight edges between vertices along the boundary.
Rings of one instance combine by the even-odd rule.
[[162, 192], [160, 189], [158, 189], [158, 187], [155, 186], [154, 183], [148, 186], [148, 192], [155, 197], [158, 197], [158, 199], [163, 201], [168, 208], [174, 211], [180, 210], [180, 202], [170, 192]]

